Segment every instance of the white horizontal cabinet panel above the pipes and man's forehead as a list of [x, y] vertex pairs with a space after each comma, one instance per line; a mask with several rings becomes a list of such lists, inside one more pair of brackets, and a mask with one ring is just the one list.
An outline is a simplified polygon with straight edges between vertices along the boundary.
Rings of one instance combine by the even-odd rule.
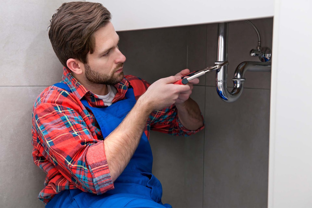
[[97, 0], [112, 13], [116, 31], [273, 17], [274, 1]]

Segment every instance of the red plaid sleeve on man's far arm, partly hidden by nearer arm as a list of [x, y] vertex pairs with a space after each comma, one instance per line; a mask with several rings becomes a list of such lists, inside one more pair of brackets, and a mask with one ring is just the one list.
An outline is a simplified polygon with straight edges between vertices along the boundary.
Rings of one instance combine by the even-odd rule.
[[[133, 75], [127, 75], [125, 77], [133, 86], [134, 95], [136, 99], [138, 99], [150, 86], [150, 84], [147, 81], [139, 77]], [[178, 118], [177, 108], [175, 107], [174, 104], [169, 106], [168, 108], [153, 111], [152, 114], [150, 115], [149, 125], [150, 130], [180, 136], [189, 136], [199, 132], [204, 128], [204, 126], [202, 126], [201, 128], [194, 131], [185, 128], [180, 122], [180, 119]]]

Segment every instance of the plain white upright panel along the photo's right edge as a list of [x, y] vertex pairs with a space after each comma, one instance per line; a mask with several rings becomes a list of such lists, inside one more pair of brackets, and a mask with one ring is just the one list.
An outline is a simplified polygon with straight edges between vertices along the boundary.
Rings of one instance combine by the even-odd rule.
[[311, 4], [275, 0], [269, 207], [312, 207]]

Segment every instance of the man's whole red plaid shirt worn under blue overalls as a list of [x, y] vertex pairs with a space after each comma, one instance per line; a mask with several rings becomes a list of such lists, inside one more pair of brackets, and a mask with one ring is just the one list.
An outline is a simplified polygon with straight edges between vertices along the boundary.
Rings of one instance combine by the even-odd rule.
[[[81, 85], [64, 67], [62, 82], [72, 93], [56, 86], [46, 88], [37, 98], [32, 116], [32, 157], [37, 166], [46, 172], [45, 187], [38, 198], [45, 204], [66, 189], [80, 189], [85, 192], [102, 194], [114, 188], [107, 165], [103, 136], [91, 111], [80, 102], [85, 97], [90, 106], [104, 107], [102, 99]], [[115, 87], [118, 90], [113, 103], [124, 99], [129, 83], [138, 99], [149, 83], [131, 75]], [[191, 135], [182, 126], [174, 105], [154, 111], [146, 123], [144, 132], [149, 130], [172, 135]]]

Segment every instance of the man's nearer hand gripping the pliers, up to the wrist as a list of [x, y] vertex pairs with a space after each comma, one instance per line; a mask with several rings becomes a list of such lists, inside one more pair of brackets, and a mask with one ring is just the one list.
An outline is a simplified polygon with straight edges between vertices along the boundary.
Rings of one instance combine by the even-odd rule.
[[160, 110], [174, 104], [180, 93], [190, 89], [189, 85], [173, 84], [180, 79], [180, 76], [170, 76], [157, 80], [149, 86], [138, 101], [142, 102], [144, 107], [150, 111]]

